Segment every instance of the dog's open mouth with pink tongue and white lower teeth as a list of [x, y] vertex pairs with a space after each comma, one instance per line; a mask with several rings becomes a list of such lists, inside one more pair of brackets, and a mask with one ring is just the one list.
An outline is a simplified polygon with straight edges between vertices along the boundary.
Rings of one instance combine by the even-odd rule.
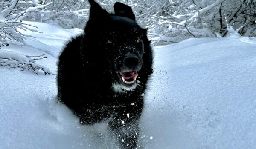
[[120, 82], [124, 84], [125, 86], [133, 85], [139, 76], [137, 70], [133, 70], [130, 72], [116, 72], [121, 76]]

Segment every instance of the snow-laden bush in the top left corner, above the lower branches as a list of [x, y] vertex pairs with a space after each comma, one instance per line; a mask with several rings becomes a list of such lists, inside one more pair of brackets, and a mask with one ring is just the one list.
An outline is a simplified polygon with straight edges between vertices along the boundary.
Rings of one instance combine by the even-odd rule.
[[[29, 24], [23, 23], [24, 17], [28, 14], [38, 14], [44, 12], [41, 0], [1, 0], [0, 1], [0, 48], [9, 43], [24, 44], [24, 38], [29, 37], [22, 34], [18, 29], [38, 32], [28, 28]], [[36, 15], [34, 15], [36, 16]]]

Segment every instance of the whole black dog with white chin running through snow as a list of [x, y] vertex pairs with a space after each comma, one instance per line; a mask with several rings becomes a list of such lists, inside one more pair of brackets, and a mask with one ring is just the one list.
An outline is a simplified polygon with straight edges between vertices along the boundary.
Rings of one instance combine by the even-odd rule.
[[109, 14], [94, 0], [84, 34], [58, 62], [58, 100], [83, 124], [108, 121], [122, 149], [135, 149], [152, 50], [131, 7], [116, 2]]

